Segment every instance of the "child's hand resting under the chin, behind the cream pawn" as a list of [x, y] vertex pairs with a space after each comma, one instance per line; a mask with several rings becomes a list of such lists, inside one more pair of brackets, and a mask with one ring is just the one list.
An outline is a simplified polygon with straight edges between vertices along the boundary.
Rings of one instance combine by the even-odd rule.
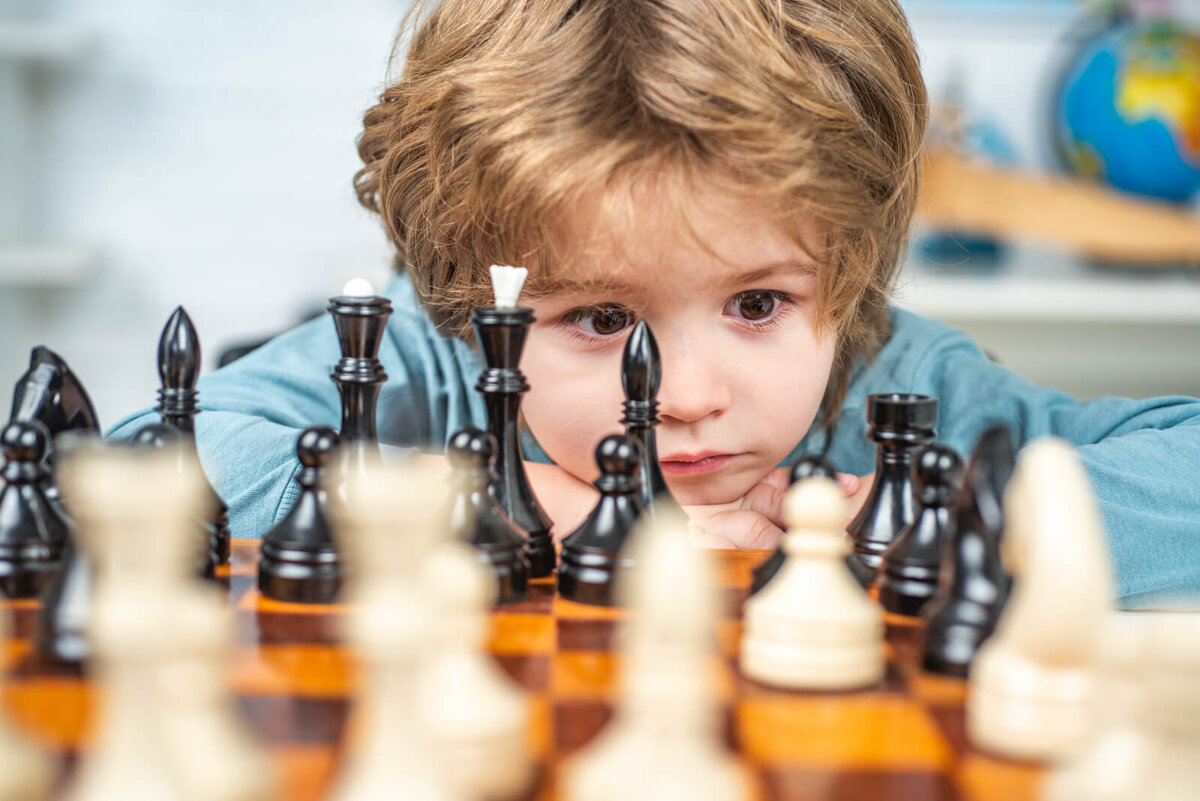
[[[692, 543], [703, 548], [774, 548], [784, 536], [784, 495], [790, 468], [775, 468], [740, 500], [685, 506]], [[853, 519], [874, 483], [874, 475], [838, 474], [846, 493], [846, 520]]]

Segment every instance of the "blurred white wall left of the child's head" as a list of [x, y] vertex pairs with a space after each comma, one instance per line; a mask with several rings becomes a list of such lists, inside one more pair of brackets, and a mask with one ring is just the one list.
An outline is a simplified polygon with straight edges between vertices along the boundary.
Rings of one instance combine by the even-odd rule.
[[[40, 236], [95, 246], [70, 289], [0, 283], [0, 383], [30, 347], [61, 353], [102, 420], [154, 402], [175, 305], [211, 363], [293, 324], [386, 247], [350, 179], [362, 110], [407, 0], [58, 0], [89, 31], [78, 65], [40, 71]], [[2, 14], [2, 10], [0, 10]], [[2, 70], [4, 66], [0, 66]], [[5, 390], [7, 392], [7, 390]]]

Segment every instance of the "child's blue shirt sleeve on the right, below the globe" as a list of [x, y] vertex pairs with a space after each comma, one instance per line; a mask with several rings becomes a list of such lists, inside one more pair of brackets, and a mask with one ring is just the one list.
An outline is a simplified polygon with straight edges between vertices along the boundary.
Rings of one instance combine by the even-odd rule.
[[913, 391], [940, 399], [938, 438], [966, 453], [1004, 423], [1015, 445], [1044, 435], [1079, 448], [1108, 529], [1120, 602], [1159, 606], [1200, 598], [1200, 401], [1160, 397], [1080, 403], [992, 362], [966, 335], [947, 331], [917, 363]]

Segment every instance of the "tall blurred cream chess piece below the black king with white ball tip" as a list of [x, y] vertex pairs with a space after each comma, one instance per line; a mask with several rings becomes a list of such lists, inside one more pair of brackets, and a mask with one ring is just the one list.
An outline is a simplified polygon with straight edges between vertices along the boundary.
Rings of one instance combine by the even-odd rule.
[[445, 525], [445, 482], [414, 464], [367, 465], [334, 502], [349, 565], [346, 639], [365, 666], [348, 757], [332, 801], [462, 799], [436, 769], [421, 736], [416, 671], [430, 640], [419, 570]]

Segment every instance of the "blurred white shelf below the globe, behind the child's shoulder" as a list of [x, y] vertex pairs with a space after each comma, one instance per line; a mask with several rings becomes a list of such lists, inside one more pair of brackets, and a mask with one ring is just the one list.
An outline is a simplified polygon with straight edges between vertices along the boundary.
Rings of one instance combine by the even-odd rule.
[[944, 320], [1200, 325], [1200, 272], [1112, 271], [1016, 251], [990, 275], [910, 261], [895, 300]]

